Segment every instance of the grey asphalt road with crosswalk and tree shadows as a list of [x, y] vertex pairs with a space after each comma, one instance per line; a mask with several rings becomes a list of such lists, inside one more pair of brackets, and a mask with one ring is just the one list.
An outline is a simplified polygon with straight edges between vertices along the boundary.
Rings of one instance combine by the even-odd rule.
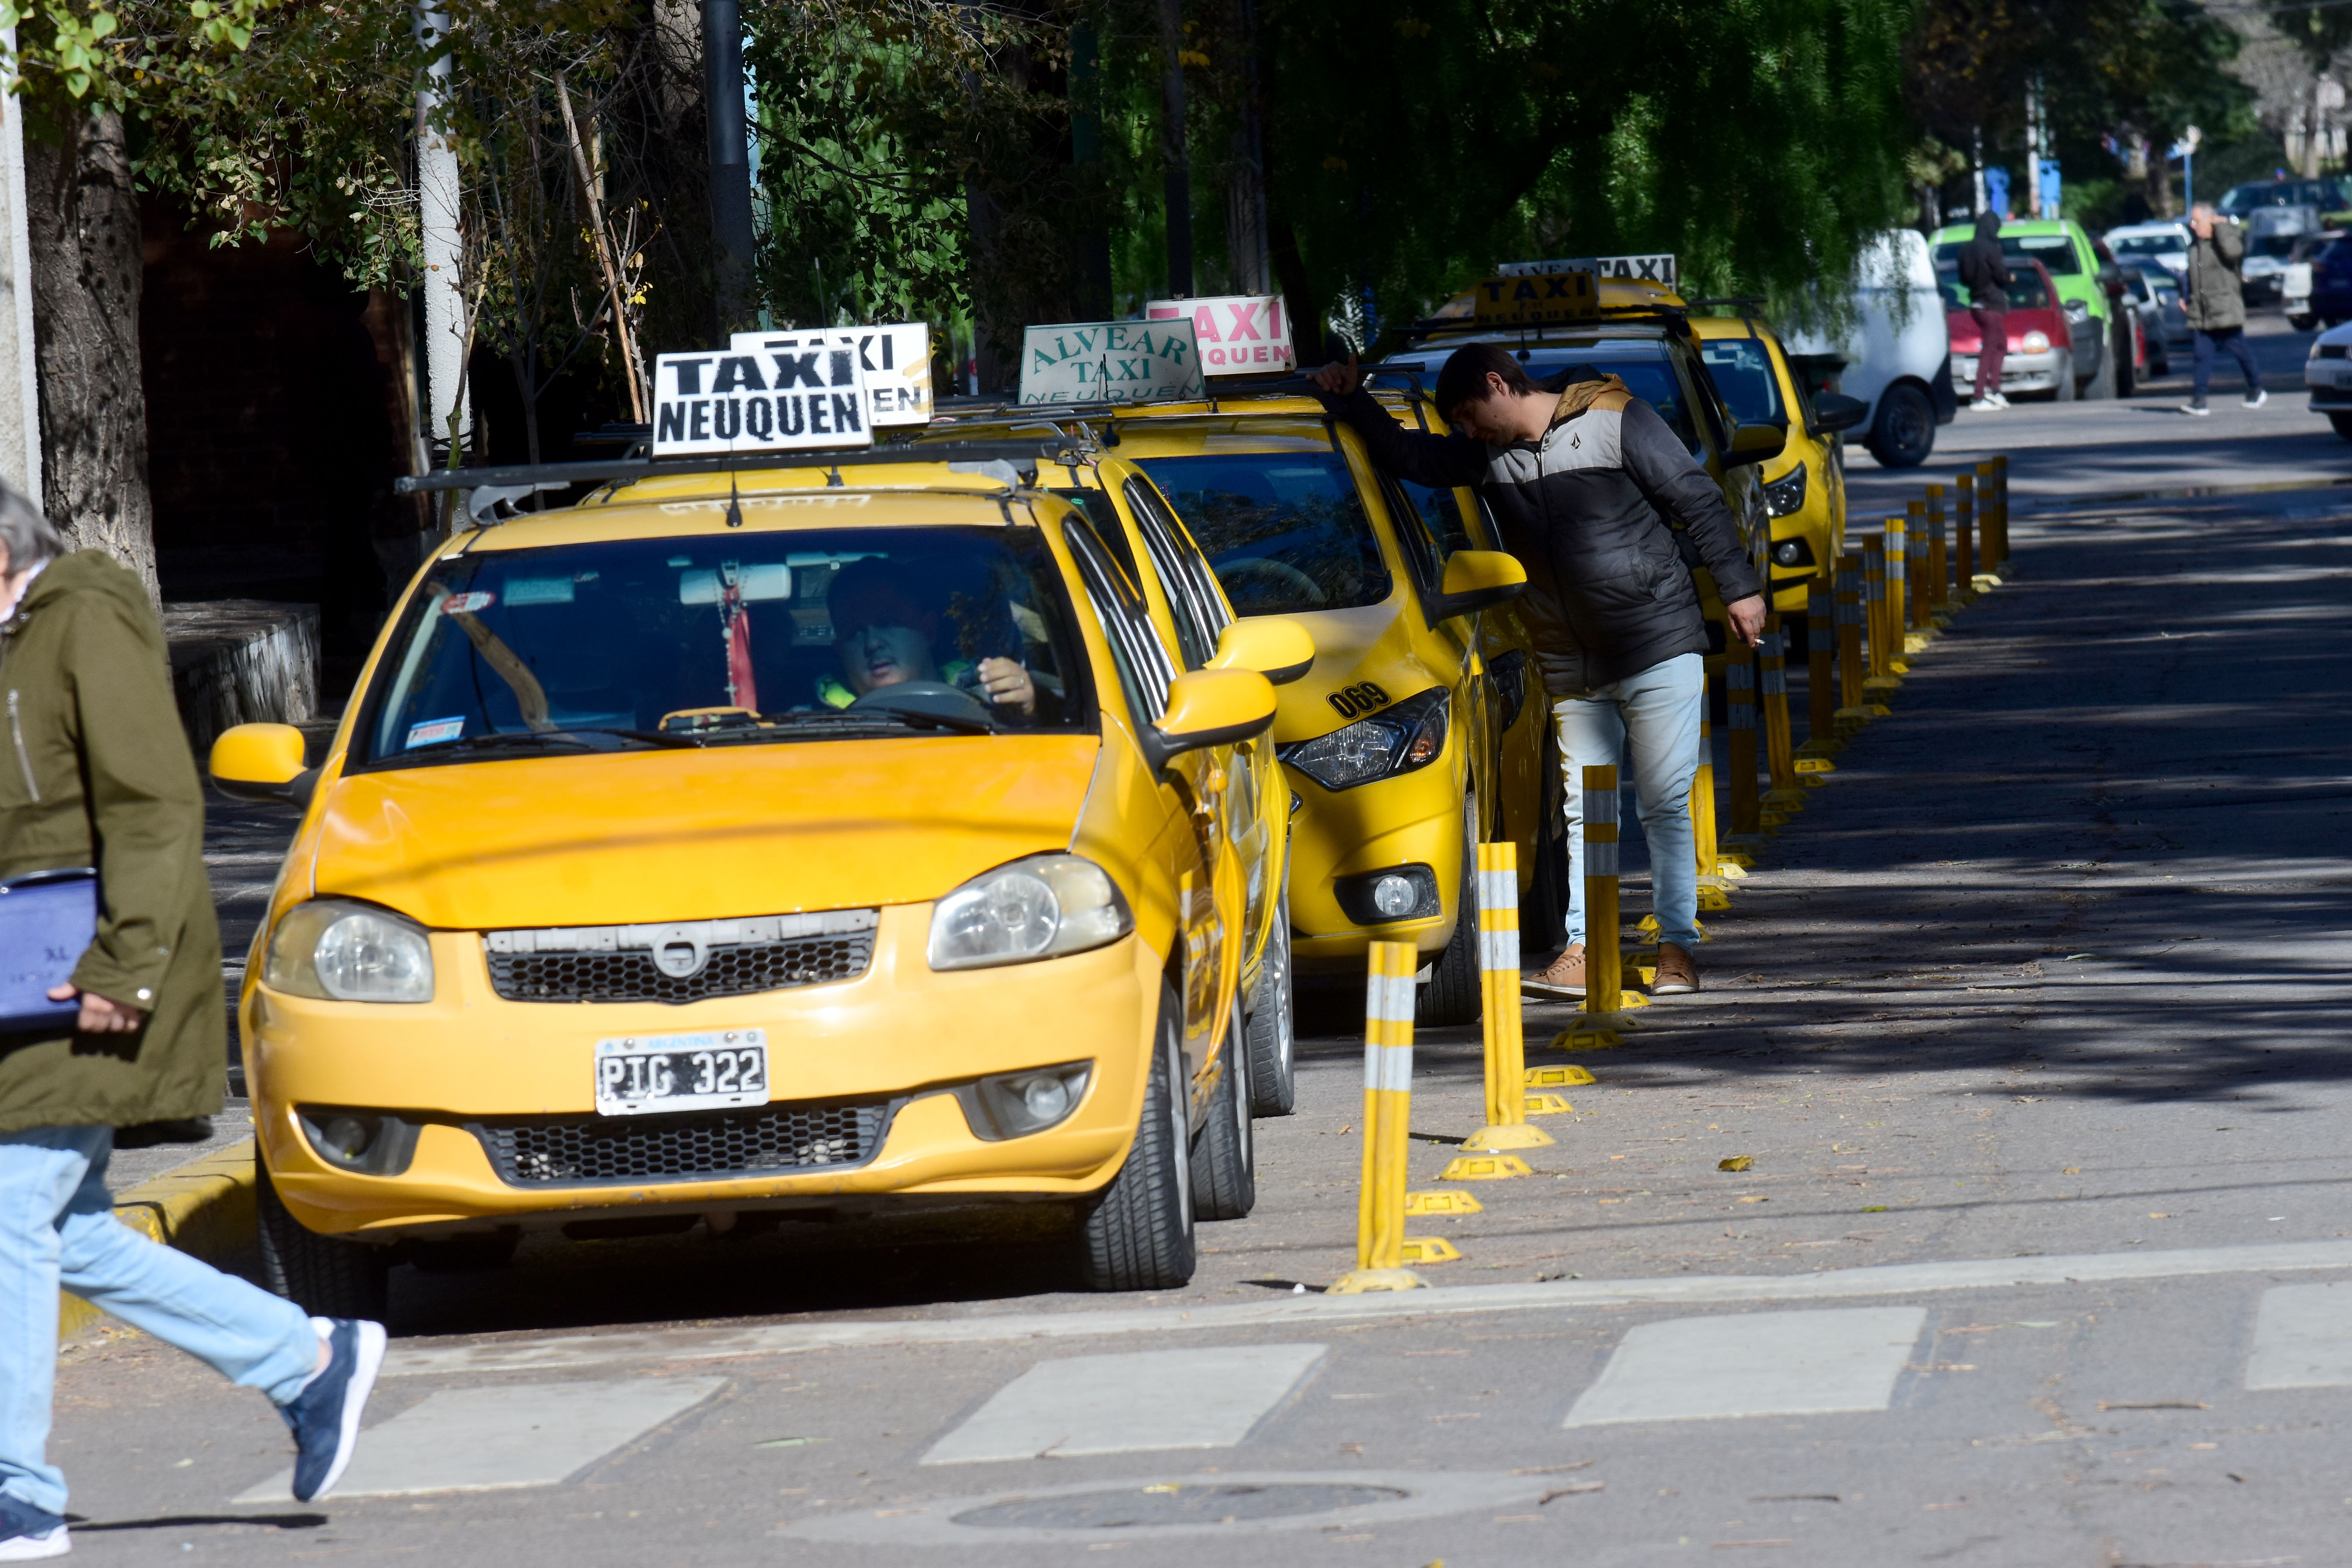
[[[2298, 489], [2180, 494], [2305, 442], [2293, 402], [2258, 411], [2277, 435], [2143, 442], [2138, 494], [2171, 498], [2018, 508], [2011, 583], [1710, 917], [1708, 990], [1531, 1051], [1597, 1081], [1534, 1178], [1414, 1225], [1463, 1251], [1432, 1291], [1322, 1293], [1359, 1034], [1317, 997], [1258, 1213], [1204, 1227], [1188, 1291], [1087, 1298], [1009, 1227], [400, 1269], [325, 1507], [270, 1500], [256, 1396], [146, 1340], [78, 1349], [78, 1554], [2345, 1561], [2352, 447], [2310, 442]], [[2131, 409], [2044, 411], [2086, 437], [2032, 463], [2122, 465], [2093, 416]], [[1531, 1044], [1566, 1023], [1529, 1009]], [[1416, 1190], [1477, 1072], [1475, 1030], [1421, 1034]]]

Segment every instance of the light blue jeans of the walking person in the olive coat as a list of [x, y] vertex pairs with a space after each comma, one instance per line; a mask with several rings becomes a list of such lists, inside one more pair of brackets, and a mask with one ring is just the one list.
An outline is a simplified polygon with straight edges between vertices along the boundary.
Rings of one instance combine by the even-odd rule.
[[318, 1331], [294, 1302], [115, 1222], [108, 1126], [0, 1133], [0, 1493], [66, 1512], [49, 1446], [56, 1288], [226, 1378], [292, 1401], [318, 1368]]

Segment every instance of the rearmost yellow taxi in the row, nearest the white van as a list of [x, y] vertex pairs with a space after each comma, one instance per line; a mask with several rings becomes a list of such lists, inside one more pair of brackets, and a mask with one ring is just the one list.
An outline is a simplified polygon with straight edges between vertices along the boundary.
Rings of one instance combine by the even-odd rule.
[[1846, 456], [1839, 433], [1860, 423], [1870, 404], [1806, 393], [1804, 381], [1790, 371], [1780, 339], [1752, 315], [1693, 315], [1691, 334], [1731, 416], [1743, 425], [1788, 430], [1788, 444], [1757, 463], [1757, 482], [1771, 517], [1771, 607], [1783, 616], [1804, 616], [1809, 588], [1828, 583], [1846, 550]]

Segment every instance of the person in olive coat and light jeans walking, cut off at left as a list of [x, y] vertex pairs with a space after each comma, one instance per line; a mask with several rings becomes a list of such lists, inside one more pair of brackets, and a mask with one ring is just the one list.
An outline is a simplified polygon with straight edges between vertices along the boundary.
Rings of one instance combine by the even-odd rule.
[[94, 929], [59, 933], [87, 943], [47, 992], [75, 1009], [0, 1034], [0, 1563], [19, 1563], [73, 1544], [66, 1479], [45, 1458], [59, 1286], [268, 1394], [303, 1502], [350, 1462], [383, 1326], [303, 1316], [113, 1218], [115, 1128], [221, 1110], [205, 797], [139, 578], [103, 550], [68, 555], [7, 487], [0, 705], [0, 884], [96, 867], [99, 910]]

